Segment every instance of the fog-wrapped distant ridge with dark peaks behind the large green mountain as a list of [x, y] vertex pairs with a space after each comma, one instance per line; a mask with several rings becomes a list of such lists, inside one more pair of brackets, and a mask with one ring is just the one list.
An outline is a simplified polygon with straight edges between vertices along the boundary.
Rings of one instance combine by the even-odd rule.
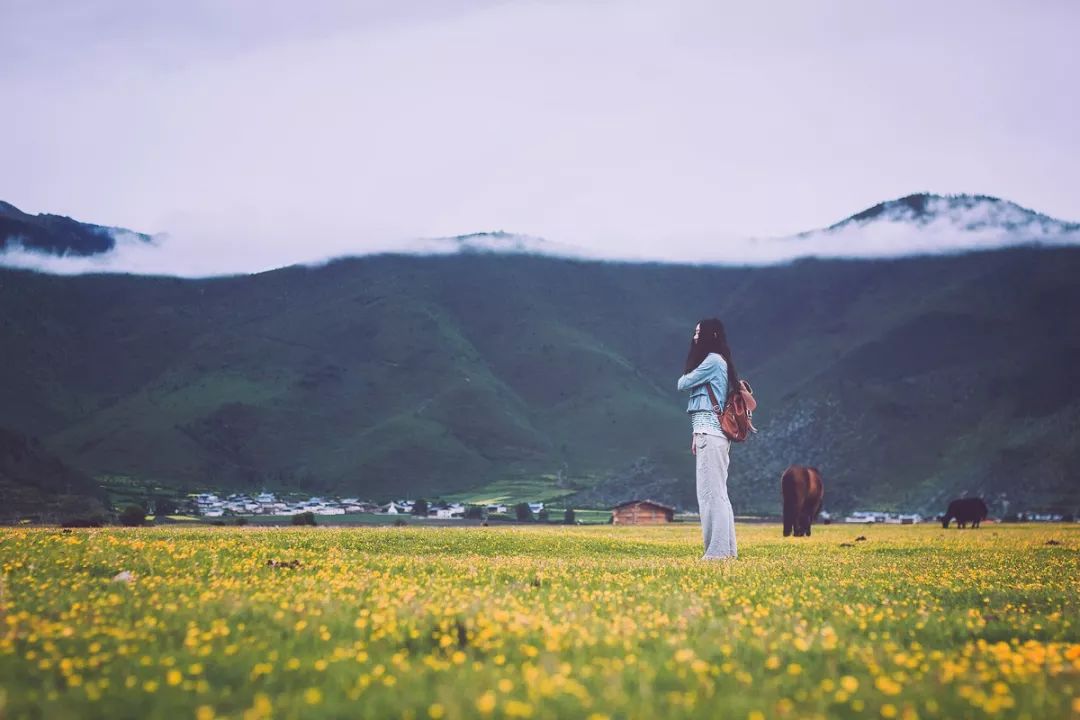
[[[117, 240], [122, 242], [118, 243]], [[52, 215], [30, 216], [0, 203], [0, 266], [59, 274], [125, 272], [134, 274], [214, 276], [262, 271], [283, 264], [215, 267], [202, 258], [198, 269], [178, 271], [183, 248], [161, 235], [131, 233], [119, 228], [81, 223]], [[799, 257], [905, 257], [1012, 247], [1080, 244], [1080, 222], [1057, 220], [989, 195], [916, 193], [878, 203], [828, 227], [780, 237], [702, 241], [700, 249], [673, 249], [658, 239], [656, 249], [584, 247], [556, 240], [507, 232], [475, 232], [449, 237], [402, 241], [378, 252], [338, 252], [364, 257], [387, 252], [410, 255], [503, 254], [616, 260], [631, 262], [694, 262], [771, 264]], [[27, 252], [29, 250], [29, 252]], [[166, 253], [167, 250], [167, 253]], [[672, 256], [671, 253], [679, 253]], [[327, 257], [294, 258], [326, 262]], [[254, 260], [253, 260], [254, 262]]]

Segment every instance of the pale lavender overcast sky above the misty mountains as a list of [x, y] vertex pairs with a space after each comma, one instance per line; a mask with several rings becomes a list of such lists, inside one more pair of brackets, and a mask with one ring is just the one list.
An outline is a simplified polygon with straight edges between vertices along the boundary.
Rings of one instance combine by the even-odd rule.
[[723, 255], [917, 191], [1080, 220], [1078, 29], [1075, 0], [0, 0], [0, 200], [255, 266], [498, 229]]

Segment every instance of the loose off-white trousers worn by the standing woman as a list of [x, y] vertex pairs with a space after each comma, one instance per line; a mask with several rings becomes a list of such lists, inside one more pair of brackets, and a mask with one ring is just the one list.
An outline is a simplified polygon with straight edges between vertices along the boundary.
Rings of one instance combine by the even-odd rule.
[[693, 434], [698, 460], [698, 513], [705, 541], [702, 559], [735, 557], [735, 515], [728, 500], [728, 450], [724, 435]]

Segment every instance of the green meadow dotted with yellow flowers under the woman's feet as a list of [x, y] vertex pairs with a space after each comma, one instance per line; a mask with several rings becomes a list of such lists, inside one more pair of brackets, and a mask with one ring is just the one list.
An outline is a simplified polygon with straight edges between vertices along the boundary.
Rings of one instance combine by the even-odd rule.
[[0, 530], [0, 718], [1080, 717], [1080, 528], [738, 532]]

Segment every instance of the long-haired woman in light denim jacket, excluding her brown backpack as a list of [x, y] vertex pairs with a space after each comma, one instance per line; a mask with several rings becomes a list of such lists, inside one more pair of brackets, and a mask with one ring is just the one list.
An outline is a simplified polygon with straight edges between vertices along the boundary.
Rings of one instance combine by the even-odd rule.
[[724, 324], [712, 317], [693, 328], [693, 340], [686, 357], [686, 373], [678, 379], [680, 391], [690, 391], [690, 415], [693, 435], [690, 452], [698, 462], [698, 512], [701, 532], [705, 541], [702, 559], [723, 559], [737, 556], [735, 517], [728, 500], [727, 435], [713, 411], [707, 385], [712, 385], [716, 400], [723, 407], [728, 396], [728, 383], [738, 383], [735, 366], [731, 362]]

